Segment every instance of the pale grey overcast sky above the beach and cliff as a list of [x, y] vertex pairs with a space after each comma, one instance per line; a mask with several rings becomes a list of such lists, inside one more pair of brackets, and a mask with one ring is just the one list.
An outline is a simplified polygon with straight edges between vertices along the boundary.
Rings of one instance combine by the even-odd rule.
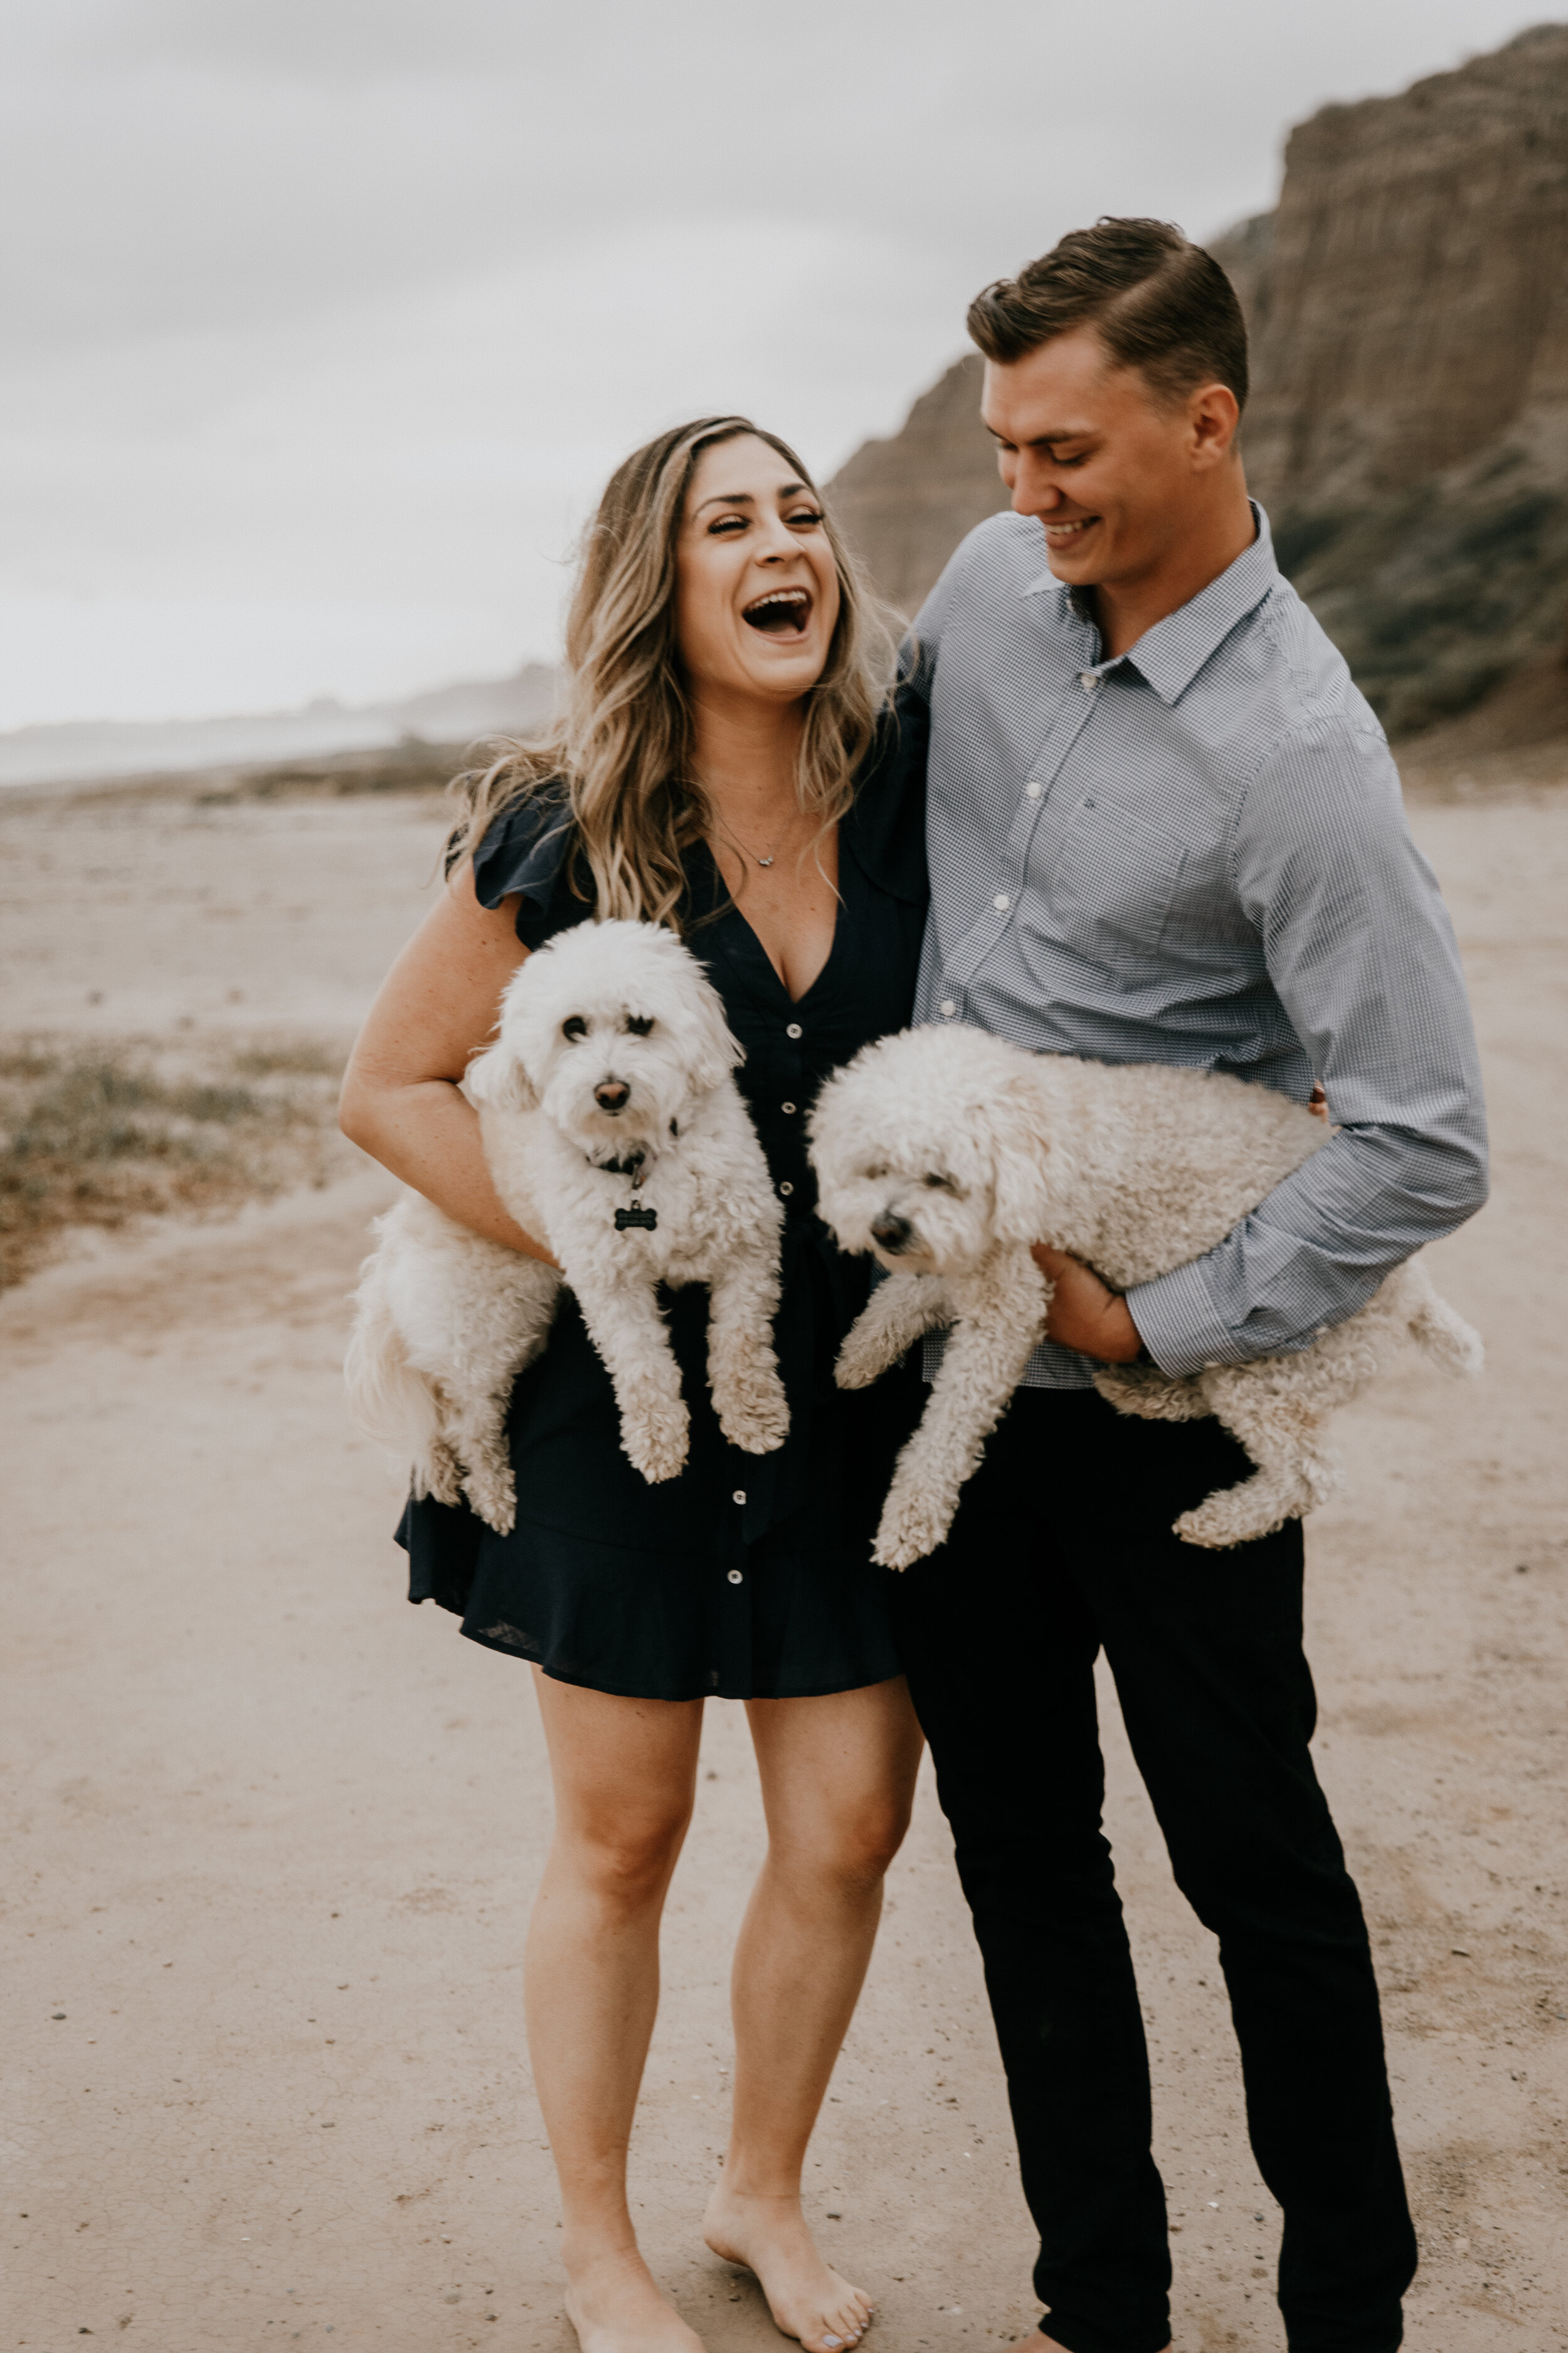
[[0, 727], [550, 656], [635, 442], [820, 473], [1065, 228], [1213, 235], [1514, 0], [0, 0]]

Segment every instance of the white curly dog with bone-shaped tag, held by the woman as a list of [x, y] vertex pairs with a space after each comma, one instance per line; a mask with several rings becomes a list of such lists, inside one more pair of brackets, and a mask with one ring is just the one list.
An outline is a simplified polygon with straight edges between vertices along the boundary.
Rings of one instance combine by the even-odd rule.
[[733, 1068], [712, 981], [646, 922], [583, 922], [508, 984], [498, 1038], [463, 1092], [496, 1191], [559, 1273], [458, 1226], [418, 1193], [376, 1219], [348, 1346], [367, 1435], [414, 1464], [414, 1494], [461, 1492], [515, 1522], [505, 1445], [512, 1381], [567, 1282], [604, 1358], [621, 1445], [646, 1480], [686, 1461], [689, 1414], [656, 1287], [710, 1287], [708, 1381], [748, 1454], [783, 1445], [790, 1412], [771, 1346], [783, 1212]]

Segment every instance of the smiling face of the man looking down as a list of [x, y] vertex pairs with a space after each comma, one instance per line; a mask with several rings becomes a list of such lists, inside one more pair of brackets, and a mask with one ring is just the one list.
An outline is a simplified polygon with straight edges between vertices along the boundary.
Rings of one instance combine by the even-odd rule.
[[[1211, 496], [1234, 424], [1215, 433], [1211, 393], [1164, 400], [1119, 367], [1093, 327], [1020, 360], [985, 362], [980, 416], [997, 440], [1013, 511], [1037, 515], [1051, 569], [1072, 588], [1159, 574]], [[1220, 402], [1234, 400], [1220, 391]]]

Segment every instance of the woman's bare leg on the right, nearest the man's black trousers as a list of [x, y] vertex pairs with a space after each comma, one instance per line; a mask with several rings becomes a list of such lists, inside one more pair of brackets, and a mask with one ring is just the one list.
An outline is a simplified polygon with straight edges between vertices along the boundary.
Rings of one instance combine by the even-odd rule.
[[736, 2115], [703, 2228], [757, 2273], [785, 2337], [835, 2353], [858, 2344], [872, 2304], [818, 2254], [799, 2172], [910, 1826], [922, 1737], [900, 1675], [752, 1699], [748, 1715], [769, 1854], [736, 1946]]

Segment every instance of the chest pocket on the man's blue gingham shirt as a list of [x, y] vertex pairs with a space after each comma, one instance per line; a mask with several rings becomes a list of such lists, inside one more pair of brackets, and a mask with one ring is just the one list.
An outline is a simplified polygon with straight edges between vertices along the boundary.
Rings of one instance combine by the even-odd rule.
[[1093, 793], [1063, 812], [1030, 856], [1025, 934], [1112, 965], [1152, 955], [1182, 880], [1187, 849]]

